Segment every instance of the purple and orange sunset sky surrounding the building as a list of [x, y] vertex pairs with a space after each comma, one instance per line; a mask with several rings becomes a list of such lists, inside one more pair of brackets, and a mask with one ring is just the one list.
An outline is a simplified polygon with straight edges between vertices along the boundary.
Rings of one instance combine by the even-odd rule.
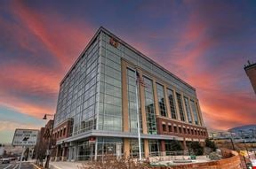
[[196, 88], [210, 129], [256, 123], [256, 1], [0, 1], [0, 142], [39, 128], [59, 84], [106, 27]]

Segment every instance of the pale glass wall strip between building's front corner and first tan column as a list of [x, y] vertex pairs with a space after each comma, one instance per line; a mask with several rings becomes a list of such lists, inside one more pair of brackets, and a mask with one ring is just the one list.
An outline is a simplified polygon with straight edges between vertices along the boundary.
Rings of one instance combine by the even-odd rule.
[[100, 57], [100, 130], [123, 131], [121, 58], [108, 47], [101, 45]]

